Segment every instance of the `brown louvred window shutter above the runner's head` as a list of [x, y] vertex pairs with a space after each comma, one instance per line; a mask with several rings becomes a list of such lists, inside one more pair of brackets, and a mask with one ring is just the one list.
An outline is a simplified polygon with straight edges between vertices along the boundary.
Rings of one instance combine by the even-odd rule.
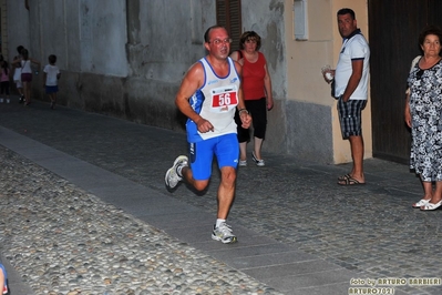
[[227, 29], [234, 40], [230, 50], [239, 49], [241, 35], [241, 1], [240, 0], [216, 0], [216, 22]]

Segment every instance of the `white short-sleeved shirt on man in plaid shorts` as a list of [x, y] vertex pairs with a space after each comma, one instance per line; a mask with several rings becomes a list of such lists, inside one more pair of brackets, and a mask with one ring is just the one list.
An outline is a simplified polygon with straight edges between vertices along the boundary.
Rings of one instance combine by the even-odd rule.
[[[359, 31], [359, 30], [358, 30]], [[335, 71], [335, 93], [339, 98], [346, 91], [348, 81], [353, 72], [352, 60], [363, 60], [362, 77], [350, 100], [367, 100], [370, 48], [361, 33], [356, 33], [350, 39], [345, 39], [339, 54], [338, 65]]]

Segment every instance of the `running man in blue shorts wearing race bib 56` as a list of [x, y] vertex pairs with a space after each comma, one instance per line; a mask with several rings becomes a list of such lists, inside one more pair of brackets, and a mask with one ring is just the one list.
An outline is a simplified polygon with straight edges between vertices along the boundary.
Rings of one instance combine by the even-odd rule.
[[228, 57], [232, 39], [227, 30], [219, 26], [210, 27], [204, 41], [208, 55], [191, 67], [175, 99], [179, 111], [188, 118], [189, 159], [178, 156], [167, 170], [165, 183], [168, 189], [174, 189], [184, 179], [197, 191], [204, 191], [210, 180], [215, 155], [220, 184], [212, 238], [228, 244], [237, 241], [226, 223], [235, 197], [239, 155], [235, 110], [239, 110], [243, 128], [250, 125], [251, 118], [243, 100], [241, 65]]

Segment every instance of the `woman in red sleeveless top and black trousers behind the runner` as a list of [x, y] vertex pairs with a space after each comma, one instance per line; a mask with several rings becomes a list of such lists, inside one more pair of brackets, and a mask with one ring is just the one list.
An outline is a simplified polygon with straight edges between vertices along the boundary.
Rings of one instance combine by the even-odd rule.
[[[266, 58], [259, 49], [261, 38], [254, 31], [244, 32], [239, 39], [240, 50], [230, 54], [230, 58], [243, 65], [243, 92], [246, 109], [250, 112], [254, 126], [254, 151], [251, 159], [258, 166], [264, 166], [261, 156], [263, 141], [266, 136], [267, 111], [274, 108], [271, 95], [271, 79], [267, 70]], [[239, 166], [247, 165], [247, 143], [250, 141], [250, 131], [240, 125], [238, 112], [235, 113], [239, 141]]]

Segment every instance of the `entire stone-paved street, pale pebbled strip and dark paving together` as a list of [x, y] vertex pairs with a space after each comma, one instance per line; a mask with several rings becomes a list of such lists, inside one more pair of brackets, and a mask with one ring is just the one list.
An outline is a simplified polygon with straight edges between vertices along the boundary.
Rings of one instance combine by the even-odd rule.
[[13, 102], [0, 104], [0, 244], [34, 294], [348, 294], [350, 278], [442, 278], [442, 211], [411, 207], [422, 187], [407, 165], [369, 159], [367, 184], [346, 187], [350, 165], [264, 146], [265, 167], [238, 170], [239, 242], [223, 245], [210, 238], [215, 166], [204, 194], [165, 190], [184, 133]]

